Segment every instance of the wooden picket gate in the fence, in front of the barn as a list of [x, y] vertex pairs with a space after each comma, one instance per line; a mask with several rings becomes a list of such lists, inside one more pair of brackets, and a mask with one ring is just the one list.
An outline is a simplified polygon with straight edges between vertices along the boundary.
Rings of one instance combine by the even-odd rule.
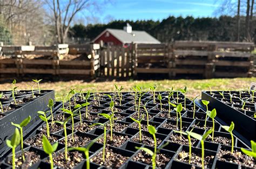
[[127, 78], [133, 76], [133, 55], [131, 48], [108, 46], [100, 55], [101, 75]]

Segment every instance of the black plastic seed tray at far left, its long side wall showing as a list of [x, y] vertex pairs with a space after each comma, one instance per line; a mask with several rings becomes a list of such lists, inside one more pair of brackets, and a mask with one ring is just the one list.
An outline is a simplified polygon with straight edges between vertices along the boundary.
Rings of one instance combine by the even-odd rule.
[[11, 91], [0, 91], [4, 93], [1, 103], [3, 105], [4, 112], [0, 113], [0, 150], [5, 145], [7, 137], [11, 136], [14, 132], [15, 126], [11, 125], [11, 122], [19, 124], [22, 120], [31, 116], [30, 123], [24, 127], [24, 131], [28, 129], [39, 118], [37, 111], [48, 109], [49, 99], [55, 100], [55, 93], [53, 90], [41, 90], [41, 94], [38, 91], [35, 92], [35, 98], [32, 98], [31, 91], [17, 91], [15, 99], [17, 105], [12, 98]]

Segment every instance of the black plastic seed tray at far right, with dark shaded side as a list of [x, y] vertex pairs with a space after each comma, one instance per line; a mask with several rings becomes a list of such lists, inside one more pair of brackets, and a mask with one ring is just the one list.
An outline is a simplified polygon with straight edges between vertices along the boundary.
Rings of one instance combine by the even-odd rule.
[[[220, 93], [223, 93], [221, 96]], [[231, 96], [230, 96], [231, 94]], [[242, 109], [242, 101], [245, 100], [244, 109]], [[255, 99], [252, 99], [252, 93], [248, 91], [203, 91], [202, 99], [210, 101], [209, 107], [217, 110], [217, 116], [225, 123], [230, 124], [231, 121], [235, 124], [237, 130], [247, 142], [256, 140], [256, 118], [254, 118]]]

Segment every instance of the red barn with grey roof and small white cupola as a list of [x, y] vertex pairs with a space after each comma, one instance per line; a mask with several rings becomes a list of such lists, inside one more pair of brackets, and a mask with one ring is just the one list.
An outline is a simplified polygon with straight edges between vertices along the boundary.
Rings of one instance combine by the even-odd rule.
[[145, 31], [133, 31], [132, 26], [127, 23], [124, 29], [105, 29], [92, 42], [104, 45], [129, 46], [131, 43], [159, 44], [160, 42]]

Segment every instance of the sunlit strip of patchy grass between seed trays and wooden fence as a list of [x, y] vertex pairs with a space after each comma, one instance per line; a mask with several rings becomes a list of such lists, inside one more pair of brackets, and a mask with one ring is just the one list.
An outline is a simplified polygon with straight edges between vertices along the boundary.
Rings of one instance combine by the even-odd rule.
[[[83, 91], [92, 90], [94, 87], [97, 88], [98, 92], [107, 92], [114, 90], [114, 84], [118, 86], [123, 85], [124, 91], [131, 91], [133, 85], [143, 86], [145, 90], [149, 90], [149, 85], [157, 84], [157, 90], [166, 91], [169, 87], [178, 89], [179, 87], [187, 86], [187, 96], [195, 97], [200, 96], [202, 90], [209, 90], [208, 85], [214, 90], [247, 90], [251, 82], [256, 82], [256, 77], [252, 78], [233, 78], [233, 79], [178, 79], [178, 80], [128, 80], [128, 81], [109, 81], [109, 82], [83, 82], [83, 80], [71, 80], [68, 82], [44, 82], [41, 83], [41, 89], [54, 89], [57, 100], [70, 89], [83, 89]], [[17, 82], [18, 90], [29, 90], [31, 82]], [[0, 84], [0, 90], [10, 90], [10, 83]], [[37, 85], [34, 85], [37, 89]]]

